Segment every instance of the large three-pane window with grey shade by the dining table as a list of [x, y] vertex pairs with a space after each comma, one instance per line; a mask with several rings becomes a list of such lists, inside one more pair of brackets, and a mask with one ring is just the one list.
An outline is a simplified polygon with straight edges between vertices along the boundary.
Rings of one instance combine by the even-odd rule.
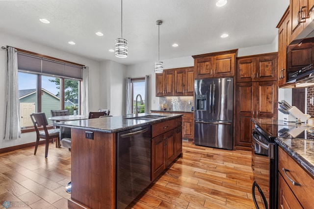
[[47, 119], [52, 109], [69, 109], [73, 114], [76, 106], [79, 112], [82, 66], [18, 51], [18, 70], [22, 129], [33, 126], [32, 112], [45, 112]]

